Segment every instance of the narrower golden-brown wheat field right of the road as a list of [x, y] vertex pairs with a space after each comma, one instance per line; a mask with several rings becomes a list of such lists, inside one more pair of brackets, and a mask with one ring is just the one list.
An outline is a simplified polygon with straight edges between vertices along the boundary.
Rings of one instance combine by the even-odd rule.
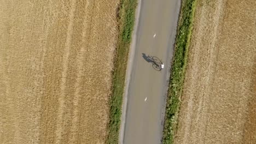
[[256, 143], [256, 1], [198, 0], [174, 143]]

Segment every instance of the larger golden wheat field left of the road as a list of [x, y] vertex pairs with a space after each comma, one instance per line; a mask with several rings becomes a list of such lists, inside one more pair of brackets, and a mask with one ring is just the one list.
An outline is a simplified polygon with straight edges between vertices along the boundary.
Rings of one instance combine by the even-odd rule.
[[0, 1], [0, 143], [104, 143], [119, 1]]

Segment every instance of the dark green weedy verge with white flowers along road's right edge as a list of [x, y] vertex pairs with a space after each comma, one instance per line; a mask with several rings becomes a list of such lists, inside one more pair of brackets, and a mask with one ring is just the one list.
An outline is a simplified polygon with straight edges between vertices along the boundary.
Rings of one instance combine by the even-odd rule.
[[187, 66], [188, 48], [193, 30], [193, 18], [197, 0], [183, 0], [176, 35], [171, 79], [168, 88], [165, 124], [162, 137], [163, 144], [174, 141], [177, 130], [180, 98], [183, 91], [185, 68]]

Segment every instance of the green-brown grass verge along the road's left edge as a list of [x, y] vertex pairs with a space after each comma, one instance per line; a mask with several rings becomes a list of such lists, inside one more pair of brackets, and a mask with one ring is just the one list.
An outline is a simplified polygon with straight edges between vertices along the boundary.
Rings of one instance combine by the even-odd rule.
[[120, 33], [114, 60], [112, 95], [109, 104], [110, 120], [108, 123], [108, 137], [106, 142], [109, 144], [118, 144], [127, 58], [129, 55], [133, 26], [135, 25], [136, 7], [137, 0], [120, 0], [118, 11]]

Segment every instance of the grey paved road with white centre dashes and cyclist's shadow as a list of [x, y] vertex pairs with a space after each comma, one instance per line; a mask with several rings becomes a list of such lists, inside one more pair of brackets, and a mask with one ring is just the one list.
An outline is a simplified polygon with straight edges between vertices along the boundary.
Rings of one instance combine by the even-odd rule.
[[[127, 107], [120, 143], [161, 142], [168, 78], [180, 0], [144, 0], [136, 31]], [[134, 41], [133, 41], [134, 42]], [[159, 61], [164, 69], [158, 69]], [[128, 68], [129, 69], [129, 68]]]

